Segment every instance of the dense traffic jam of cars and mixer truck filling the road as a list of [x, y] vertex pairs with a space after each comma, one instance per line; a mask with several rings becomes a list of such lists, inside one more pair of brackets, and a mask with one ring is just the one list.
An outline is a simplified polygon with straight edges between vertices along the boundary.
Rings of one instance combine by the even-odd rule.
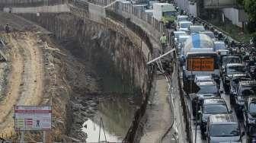
[[194, 135], [210, 143], [256, 142], [256, 50], [176, 9], [167, 26], [174, 29]]

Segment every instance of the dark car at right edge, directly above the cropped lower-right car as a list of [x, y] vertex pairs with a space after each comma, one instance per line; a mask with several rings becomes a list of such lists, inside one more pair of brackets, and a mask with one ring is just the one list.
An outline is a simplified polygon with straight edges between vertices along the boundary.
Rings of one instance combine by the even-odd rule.
[[242, 109], [245, 106], [245, 100], [250, 96], [256, 95], [256, 81], [240, 81], [237, 94], [235, 94], [235, 111], [241, 116]]

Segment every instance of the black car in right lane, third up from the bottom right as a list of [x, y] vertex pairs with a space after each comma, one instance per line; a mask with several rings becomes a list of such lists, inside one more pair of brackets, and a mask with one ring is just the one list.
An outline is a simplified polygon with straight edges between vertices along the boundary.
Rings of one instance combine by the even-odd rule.
[[240, 81], [251, 81], [251, 77], [247, 74], [234, 74], [230, 81], [229, 97], [230, 103], [235, 103], [235, 95], [237, 94]]

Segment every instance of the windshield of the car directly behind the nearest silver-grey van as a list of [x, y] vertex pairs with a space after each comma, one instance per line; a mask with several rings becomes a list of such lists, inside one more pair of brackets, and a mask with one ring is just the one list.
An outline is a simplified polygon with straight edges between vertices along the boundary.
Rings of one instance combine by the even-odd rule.
[[212, 104], [203, 106], [203, 113], [205, 114], [218, 114], [218, 113], [228, 113], [225, 104]]

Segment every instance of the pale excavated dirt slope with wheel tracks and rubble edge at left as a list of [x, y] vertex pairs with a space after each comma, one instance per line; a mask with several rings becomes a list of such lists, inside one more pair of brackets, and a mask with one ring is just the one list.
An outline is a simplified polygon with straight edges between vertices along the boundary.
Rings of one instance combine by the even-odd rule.
[[[8, 48], [8, 62], [0, 63], [7, 67], [1, 71], [5, 72], [2, 75], [6, 75], [6, 81], [0, 81], [1, 91], [5, 91], [0, 95], [0, 135], [14, 135], [14, 105], [53, 105], [53, 132], [47, 139], [58, 140], [65, 133], [69, 99], [62, 62], [66, 53], [38, 30], [0, 32], [0, 37]], [[27, 134], [25, 139], [37, 141], [37, 136]]]

